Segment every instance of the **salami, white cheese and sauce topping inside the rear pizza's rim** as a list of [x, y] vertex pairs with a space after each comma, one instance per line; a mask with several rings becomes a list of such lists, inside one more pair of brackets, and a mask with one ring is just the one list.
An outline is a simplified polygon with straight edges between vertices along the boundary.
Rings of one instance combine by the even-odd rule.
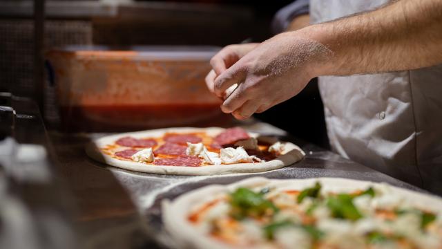
[[[124, 136], [102, 148], [102, 151], [119, 160], [137, 163], [157, 165], [160, 161], [170, 166], [206, 166], [272, 160], [281, 154], [281, 151], [269, 149], [275, 145], [258, 144], [258, 140], [250, 137], [247, 131], [234, 127], [215, 137], [204, 132], [165, 133], [162, 137], [154, 138]], [[191, 164], [186, 165], [189, 162]]]

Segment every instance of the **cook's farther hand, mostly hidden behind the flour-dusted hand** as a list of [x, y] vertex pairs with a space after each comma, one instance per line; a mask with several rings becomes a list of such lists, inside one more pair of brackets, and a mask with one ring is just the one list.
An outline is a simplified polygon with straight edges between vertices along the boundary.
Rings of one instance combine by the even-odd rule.
[[[253, 50], [253, 48], [256, 48], [256, 46], [258, 45], [258, 43], [229, 45], [222, 48], [220, 52], [213, 56], [210, 60], [210, 64], [213, 67], [213, 70], [211, 70], [206, 76], [206, 85], [207, 88], [209, 88], [209, 91], [215, 93], [213, 91], [215, 78], [226, 71], [227, 68], [238, 62], [239, 59], [244, 57], [244, 55], [247, 55], [247, 53]], [[219, 97], [224, 100], [224, 93]]]

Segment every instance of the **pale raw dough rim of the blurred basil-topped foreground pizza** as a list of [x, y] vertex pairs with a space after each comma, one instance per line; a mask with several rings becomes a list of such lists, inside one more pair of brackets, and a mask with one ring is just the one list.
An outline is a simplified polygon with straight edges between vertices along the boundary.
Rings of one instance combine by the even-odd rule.
[[[220, 194], [233, 192], [238, 187], [270, 187], [276, 190], [303, 190], [319, 182], [326, 192], [354, 192], [363, 190], [369, 186], [378, 186], [381, 183], [370, 181], [357, 181], [346, 178], [308, 178], [308, 179], [285, 179], [276, 180], [262, 177], [247, 178], [230, 185], [209, 185], [200, 189], [187, 192], [178, 196], [173, 201], [162, 202], [162, 220], [166, 232], [171, 235], [172, 246], [178, 248], [232, 248], [226, 243], [221, 243], [204, 234], [191, 225], [187, 217], [190, 212], [204, 203], [217, 198]], [[429, 194], [422, 194], [411, 190], [389, 185], [392, 195], [402, 196], [405, 201], [410, 201], [416, 208], [439, 212], [442, 210], [442, 199]]]

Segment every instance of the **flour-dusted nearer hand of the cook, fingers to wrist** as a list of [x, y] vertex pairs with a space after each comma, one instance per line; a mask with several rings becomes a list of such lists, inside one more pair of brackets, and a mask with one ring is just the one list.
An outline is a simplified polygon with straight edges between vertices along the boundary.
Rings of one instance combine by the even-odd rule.
[[[276, 35], [256, 46], [232, 66], [227, 66], [216, 77], [213, 92], [222, 97], [229, 86], [238, 84], [238, 87], [224, 101], [222, 111], [232, 113], [238, 119], [249, 118], [253, 113], [265, 111], [304, 89], [309, 80], [318, 75], [317, 69], [332, 52], [300, 34]], [[229, 60], [224, 65], [233, 61]]]

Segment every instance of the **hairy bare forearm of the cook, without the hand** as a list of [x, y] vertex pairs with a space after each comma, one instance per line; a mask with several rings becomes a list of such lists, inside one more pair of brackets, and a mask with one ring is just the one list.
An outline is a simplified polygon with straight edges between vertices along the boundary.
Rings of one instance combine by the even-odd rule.
[[442, 1], [401, 0], [372, 12], [303, 28], [296, 37], [332, 53], [318, 75], [380, 73], [442, 63]]

